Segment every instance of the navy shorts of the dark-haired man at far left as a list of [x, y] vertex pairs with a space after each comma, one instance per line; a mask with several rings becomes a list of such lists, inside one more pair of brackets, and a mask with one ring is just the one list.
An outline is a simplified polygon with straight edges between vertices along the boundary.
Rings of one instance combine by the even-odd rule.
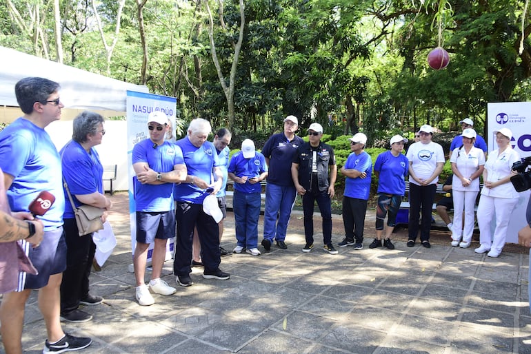
[[66, 241], [63, 227], [46, 231], [39, 247], [32, 248], [28, 242], [23, 242], [26, 255], [39, 272], [37, 275], [25, 272], [19, 273], [19, 287], [24, 289], [41, 289], [48, 285], [50, 275], [63, 273], [66, 269]]

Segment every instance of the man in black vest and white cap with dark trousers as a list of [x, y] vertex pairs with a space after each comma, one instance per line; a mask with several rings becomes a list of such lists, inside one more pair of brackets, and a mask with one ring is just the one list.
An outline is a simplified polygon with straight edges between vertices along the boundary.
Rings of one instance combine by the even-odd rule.
[[304, 211], [304, 234], [306, 244], [303, 252], [312, 251], [314, 245], [313, 214], [317, 201], [323, 218], [323, 250], [337, 254], [332, 245], [332, 203], [337, 178], [336, 157], [330, 145], [321, 142], [323, 127], [312, 123], [308, 127], [308, 143], [297, 149], [291, 164], [291, 175], [297, 192], [302, 196]]

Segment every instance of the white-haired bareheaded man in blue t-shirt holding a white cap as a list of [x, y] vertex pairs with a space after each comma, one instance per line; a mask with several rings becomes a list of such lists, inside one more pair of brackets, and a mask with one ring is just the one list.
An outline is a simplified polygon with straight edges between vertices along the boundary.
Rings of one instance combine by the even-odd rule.
[[[177, 201], [175, 218], [177, 219], [177, 246], [173, 262], [175, 281], [183, 287], [194, 284], [190, 278], [192, 271], [192, 239], [194, 227], [197, 227], [201, 243], [202, 262], [205, 267], [203, 278], [228, 280], [229, 273], [219, 269], [219, 220], [203, 209], [207, 196], [215, 196], [223, 185], [223, 175], [219, 167], [219, 157], [214, 144], [207, 140], [212, 132], [210, 123], [203, 118], [190, 122], [188, 135], [175, 143], [181, 147], [186, 163], [186, 180], [174, 187], [174, 199]], [[215, 203], [215, 207], [217, 203]], [[219, 211], [219, 210], [218, 210]], [[219, 211], [221, 214], [221, 211]]]

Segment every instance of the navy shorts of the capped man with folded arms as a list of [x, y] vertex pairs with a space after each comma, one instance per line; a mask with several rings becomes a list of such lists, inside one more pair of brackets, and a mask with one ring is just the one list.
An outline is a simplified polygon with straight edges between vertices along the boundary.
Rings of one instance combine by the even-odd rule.
[[152, 243], [155, 238], [174, 238], [175, 214], [173, 210], [148, 212], [137, 211], [137, 242]]

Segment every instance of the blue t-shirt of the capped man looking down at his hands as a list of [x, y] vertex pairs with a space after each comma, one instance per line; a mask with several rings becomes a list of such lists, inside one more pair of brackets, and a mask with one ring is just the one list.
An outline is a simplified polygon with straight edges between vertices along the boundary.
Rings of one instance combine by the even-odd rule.
[[238, 177], [248, 177], [246, 183], [234, 183], [234, 190], [242, 193], [261, 193], [260, 183], [250, 183], [249, 178], [259, 177], [268, 171], [265, 157], [259, 152], [254, 152], [254, 157], [244, 158], [242, 152], [232, 155], [228, 171]]

